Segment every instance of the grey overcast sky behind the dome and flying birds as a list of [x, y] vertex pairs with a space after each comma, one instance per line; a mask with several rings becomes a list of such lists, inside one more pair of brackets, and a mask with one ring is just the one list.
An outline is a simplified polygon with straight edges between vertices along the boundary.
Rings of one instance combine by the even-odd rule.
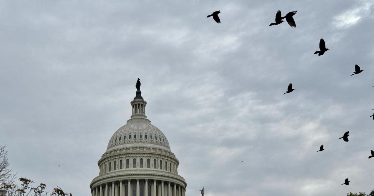
[[[221, 24], [206, 18], [216, 10]], [[297, 10], [297, 27], [269, 27], [277, 10]], [[187, 196], [370, 192], [373, 12], [373, 0], [1, 1], [0, 144], [18, 176], [89, 196], [141, 78]]]

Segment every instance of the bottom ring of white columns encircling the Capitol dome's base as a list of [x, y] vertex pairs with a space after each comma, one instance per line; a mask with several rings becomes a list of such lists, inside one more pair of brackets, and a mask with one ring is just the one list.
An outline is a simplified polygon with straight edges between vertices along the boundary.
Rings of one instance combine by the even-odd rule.
[[92, 196], [185, 196], [185, 192], [186, 188], [181, 184], [148, 179], [116, 180], [91, 189]]

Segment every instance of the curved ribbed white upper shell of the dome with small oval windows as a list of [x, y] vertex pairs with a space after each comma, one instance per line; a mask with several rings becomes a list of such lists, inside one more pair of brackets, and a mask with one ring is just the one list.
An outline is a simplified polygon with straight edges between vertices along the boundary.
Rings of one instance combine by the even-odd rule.
[[123, 146], [143, 144], [157, 145], [170, 151], [168, 139], [148, 119], [130, 119], [110, 138], [107, 151]]

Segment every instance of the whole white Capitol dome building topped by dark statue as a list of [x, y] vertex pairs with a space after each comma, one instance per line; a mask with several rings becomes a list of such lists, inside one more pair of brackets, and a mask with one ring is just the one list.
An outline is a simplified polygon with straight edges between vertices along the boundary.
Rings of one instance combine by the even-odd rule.
[[[139, 83], [139, 85], [138, 85]], [[132, 115], [110, 137], [98, 161], [92, 196], [185, 196], [187, 183], [178, 175], [179, 161], [169, 141], [145, 116], [145, 105], [137, 83], [131, 101]]]

